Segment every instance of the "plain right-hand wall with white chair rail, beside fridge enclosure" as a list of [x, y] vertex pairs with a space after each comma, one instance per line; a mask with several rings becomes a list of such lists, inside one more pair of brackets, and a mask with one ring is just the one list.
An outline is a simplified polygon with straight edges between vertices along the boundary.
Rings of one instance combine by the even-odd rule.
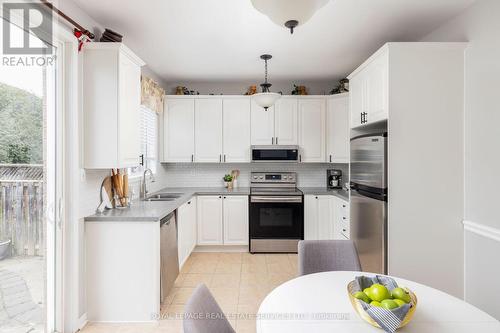
[[[500, 241], [494, 236], [500, 232], [499, 15], [500, 1], [478, 0], [423, 39], [469, 42], [465, 52], [465, 220], [479, 227], [465, 234], [465, 299], [497, 319], [500, 307], [491, 295], [500, 295], [498, 267], [493, 271], [500, 254]], [[488, 276], [495, 276], [495, 283]]]

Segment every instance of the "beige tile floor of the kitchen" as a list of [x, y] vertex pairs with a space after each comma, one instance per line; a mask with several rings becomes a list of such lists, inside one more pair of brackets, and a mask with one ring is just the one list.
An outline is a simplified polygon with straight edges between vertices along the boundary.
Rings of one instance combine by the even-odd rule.
[[159, 324], [88, 324], [83, 333], [180, 333], [184, 304], [204, 283], [238, 333], [255, 332], [255, 314], [266, 295], [297, 275], [296, 254], [194, 252], [162, 305]]

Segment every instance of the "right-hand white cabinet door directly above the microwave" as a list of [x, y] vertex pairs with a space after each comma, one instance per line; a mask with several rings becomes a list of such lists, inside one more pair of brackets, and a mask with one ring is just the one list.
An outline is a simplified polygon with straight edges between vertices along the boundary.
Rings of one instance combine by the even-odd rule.
[[296, 97], [282, 97], [274, 109], [274, 143], [277, 145], [297, 145], [298, 112]]

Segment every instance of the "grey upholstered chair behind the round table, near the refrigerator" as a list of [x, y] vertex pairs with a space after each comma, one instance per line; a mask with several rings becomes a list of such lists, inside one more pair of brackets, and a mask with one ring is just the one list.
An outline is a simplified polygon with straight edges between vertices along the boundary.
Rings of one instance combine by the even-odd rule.
[[299, 275], [360, 270], [358, 253], [351, 240], [299, 242]]

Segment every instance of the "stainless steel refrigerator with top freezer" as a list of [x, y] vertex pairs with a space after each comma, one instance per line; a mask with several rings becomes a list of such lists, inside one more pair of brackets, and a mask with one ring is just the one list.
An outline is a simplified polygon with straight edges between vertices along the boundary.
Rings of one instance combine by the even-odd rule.
[[387, 274], [387, 133], [351, 139], [351, 239], [365, 272]]

